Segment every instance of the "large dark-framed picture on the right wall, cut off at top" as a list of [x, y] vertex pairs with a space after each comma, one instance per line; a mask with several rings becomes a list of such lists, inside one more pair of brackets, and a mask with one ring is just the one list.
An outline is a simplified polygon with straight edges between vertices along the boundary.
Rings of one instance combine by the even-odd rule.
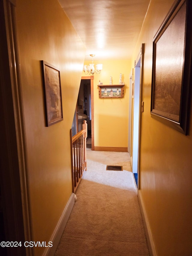
[[176, 1], [153, 40], [151, 115], [187, 134], [192, 1]]

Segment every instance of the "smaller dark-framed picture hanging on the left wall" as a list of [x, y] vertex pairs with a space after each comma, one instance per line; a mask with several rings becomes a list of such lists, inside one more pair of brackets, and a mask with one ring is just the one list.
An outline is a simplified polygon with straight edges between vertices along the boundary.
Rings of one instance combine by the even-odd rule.
[[41, 61], [43, 71], [46, 126], [63, 120], [60, 71], [53, 65]]

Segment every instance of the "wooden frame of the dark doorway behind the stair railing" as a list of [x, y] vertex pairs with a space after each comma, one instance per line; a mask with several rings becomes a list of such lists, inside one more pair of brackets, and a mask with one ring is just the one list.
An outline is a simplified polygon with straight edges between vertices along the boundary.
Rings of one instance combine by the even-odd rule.
[[93, 95], [94, 76], [81, 77], [81, 79], [90, 79], [91, 80], [91, 150], [95, 150], [95, 143], [94, 143], [94, 95]]

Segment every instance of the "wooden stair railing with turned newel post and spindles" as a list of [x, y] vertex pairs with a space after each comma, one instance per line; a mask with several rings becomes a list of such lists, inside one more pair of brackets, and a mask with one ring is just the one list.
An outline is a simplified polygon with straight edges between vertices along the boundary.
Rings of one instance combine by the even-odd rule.
[[87, 121], [83, 121], [82, 130], [72, 137], [70, 129], [71, 140], [71, 173], [72, 173], [72, 191], [75, 193], [77, 186], [81, 180], [82, 174], [87, 170], [87, 154], [86, 154], [86, 140], [87, 140]]

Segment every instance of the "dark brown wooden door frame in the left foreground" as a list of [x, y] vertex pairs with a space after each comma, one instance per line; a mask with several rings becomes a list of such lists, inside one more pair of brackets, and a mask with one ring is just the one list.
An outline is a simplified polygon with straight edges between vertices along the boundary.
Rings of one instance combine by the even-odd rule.
[[7, 247], [7, 255], [21, 256], [34, 249], [23, 246], [33, 239], [15, 8], [14, 0], [0, 3], [0, 182], [5, 237], [22, 241], [22, 247]]

